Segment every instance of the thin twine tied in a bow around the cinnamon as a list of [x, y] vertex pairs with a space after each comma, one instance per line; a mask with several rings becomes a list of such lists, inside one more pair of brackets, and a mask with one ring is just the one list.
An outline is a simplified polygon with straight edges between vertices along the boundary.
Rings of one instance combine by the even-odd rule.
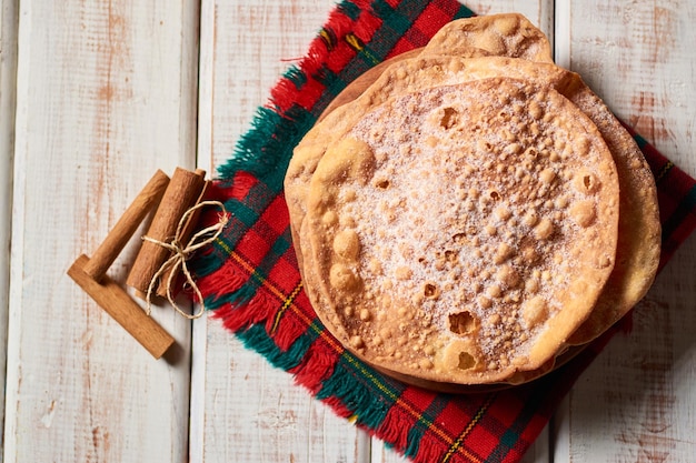
[[[188, 241], [188, 243], [186, 243], [186, 245], [182, 245], [181, 234], [183, 232], [183, 229], [189, 218], [198, 209], [201, 209], [208, 205], [216, 205], [221, 209], [221, 213], [218, 215], [219, 217], [218, 222], [215, 223], [213, 225], [210, 225], [208, 228], [200, 230], [199, 232], [193, 234], [193, 236], [191, 236], [191, 239]], [[167, 300], [169, 301], [171, 306], [177, 312], [179, 312], [179, 314], [181, 314], [182, 316], [189, 320], [198, 319], [206, 312], [206, 304], [203, 303], [203, 295], [198, 289], [198, 285], [196, 284], [196, 281], [193, 280], [193, 276], [191, 275], [191, 272], [189, 271], [188, 265], [186, 264], [186, 261], [193, 252], [198, 251], [199, 249], [203, 246], [207, 246], [208, 244], [217, 240], [217, 238], [222, 232], [222, 229], [225, 229], [225, 225], [227, 225], [228, 221], [229, 221], [229, 215], [227, 213], [227, 210], [225, 209], [225, 204], [222, 204], [220, 201], [201, 201], [200, 203], [196, 204], [195, 207], [190, 208], [183, 213], [183, 215], [179, 220], [179, 224], [177, 225], [177, 232], [175, 234], [175, 238], [170, 242], [159, 241], [147, 235], [142, 236], [145, 241], [149, 241], [150, 243], [158, 244], [171, 251], [172, 253], [172, 255], [159, 268], [157, 273], [155, 273], [155, 275], [152, 276], [152, 280], [150, 281], [150, 284], [148, 285], [148, 292], [147, 292], [147, 298], [146, 298], [146, 301], [147, 301], [146, 313], [148, 315], [151, 312], [152, 294], [155, 293], [157, 282], [161, 279], [165, 272], [167, 272], [170, 269], [171, 271], [169, 272], [169, 278], [167, 279], [165, 284], [167, 288]], [[209, 235], [209, 236], [203, 239], [203, 236], [206, 235]], [[198, 312], [193, 314], [188, 314], [185, 311], [182, 311], [179, 308], [179, 305], [176, 303], [176, 301], [173, 300], [173, 295], [171, 294], [171, 288], [175, 284], [175, 279], [179, 274], [179, 270], [183, 271], [183, 274], [186, 275], [186, 282], [188, 283], [190, 288], [192, 288], [192, 290], [196, 292], [196, 296], [200, 301], [200, 309], [198, 310]]]

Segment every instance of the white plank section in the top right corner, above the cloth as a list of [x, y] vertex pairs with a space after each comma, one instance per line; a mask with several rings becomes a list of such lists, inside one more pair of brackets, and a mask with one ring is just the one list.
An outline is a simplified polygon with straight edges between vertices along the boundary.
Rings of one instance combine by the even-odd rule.
[[[565, 2], [561, 2], [565, 3]], [[563, 61], [622, 119], [692, 175], [696, 6], [688, 0], [568, 3]]]

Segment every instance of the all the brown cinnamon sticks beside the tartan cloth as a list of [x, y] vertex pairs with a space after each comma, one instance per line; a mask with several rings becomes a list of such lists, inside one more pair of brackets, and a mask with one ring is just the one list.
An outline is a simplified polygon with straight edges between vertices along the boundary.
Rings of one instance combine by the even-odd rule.
[[[180, 284], [175, 283], [177, 288], [168, 288], [166, 284], [168, 281], [177, 282], [177, 275], [169, 275], [173, 269], [162, 269], [171, 251], [158, 243], [169, 243], [172, 240], [185, 243], [193, 234], [198, 210], [188, 214], [181, 233], [176, 235], [179, 222], [187, 211], [199, 204], [206, 194], [210, 181], [206, 181], [205, 177], [206, 172], [200, 169], [188, 171], [177, 168], [171, 179], [158, 170], [91, 258], [80, 255], [68, 270], [70, 278], [156, 359], [167, 352], [175, 339], [148, 316], [126, 288], [107, 275], [107, 271], [155, 210], [146, 233], [149, 239], [142, 240], [126, 284], [141, 299], [149, 299], [153, 294], [163, 296], [168, 291], [176, 293]], [[158, 273], [165, 276], [157, 278]]]

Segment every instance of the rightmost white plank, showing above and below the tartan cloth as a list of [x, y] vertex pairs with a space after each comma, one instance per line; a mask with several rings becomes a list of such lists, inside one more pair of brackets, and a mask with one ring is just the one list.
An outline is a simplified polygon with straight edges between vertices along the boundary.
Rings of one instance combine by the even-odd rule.
[[[557, 2], [563, 61], [619, 117], [696, 175], [696, 76], [687, 0]], [[558, 43], [558, 42], [557, 42]], [[557, 423], [555, 461], [689, 462], [696, 453], [696, 239], [692, 236], [583, 375]]]

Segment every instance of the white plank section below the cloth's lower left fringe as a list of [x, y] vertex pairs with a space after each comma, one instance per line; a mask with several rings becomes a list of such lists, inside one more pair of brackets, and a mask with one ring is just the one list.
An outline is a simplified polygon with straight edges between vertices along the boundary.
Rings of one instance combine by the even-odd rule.
[[351, 424], [247, 351], [218, 322], [207, 329], [202, 446], [191, 449], [191, 461], [366, 461], [365, 442]]

